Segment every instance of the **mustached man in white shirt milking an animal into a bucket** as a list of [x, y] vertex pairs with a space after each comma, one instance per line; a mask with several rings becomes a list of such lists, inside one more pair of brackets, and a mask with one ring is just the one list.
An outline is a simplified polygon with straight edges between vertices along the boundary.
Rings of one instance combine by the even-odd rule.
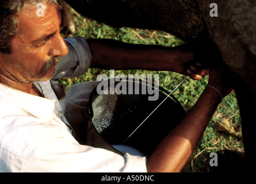
[[[37, 16], [36, 3], [32, 0], [1, 1], [0, 171], [180, 171], [221, 99], [232, 91], [217, 70], [210, 70], [210, 86], [147, 163], [143, 157], [129, 154], [123, 157], [79, 144], [79, 137], [77, 140], [73, 137], [78, 125], [73, 125], [77, 122], [72, 120], [71, 113], [86, 104], [75, 102], [80, 97], [74, 92], [81, 88], [75, 86], [68, 91], [67, 99], [59, 101], [61, 97], [54, 93], [55, 83], [50, 79], [80, 75], [88, 67], [169, 70], [193, 79], [200, 79], [208, 71], [196, 69], [196, 65], [186, 68], [194, 57], [182, 47], [169, 49], [112, 40], [86, 41], [81, 37], [64, 41], [60, 34], [62, 1], [41, 2], [44, 17]], [[14, 29], [8, 31], [8, 28]], [[60, 61], [61, 56], [64, 57]], [[81, 87], [90, 94], [88, 84], [83, 83]], [[74, 101], [68, 98], [69, 94]]]

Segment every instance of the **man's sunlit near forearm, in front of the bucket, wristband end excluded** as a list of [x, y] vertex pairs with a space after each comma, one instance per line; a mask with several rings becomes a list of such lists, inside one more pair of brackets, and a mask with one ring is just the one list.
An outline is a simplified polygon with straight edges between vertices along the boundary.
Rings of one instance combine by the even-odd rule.
[[198, 102], [150, 156], [147, 163], [149, 172], [179, 172], [183, 168], [220, 104], [220, 99], [214, 89], [206, 87]]

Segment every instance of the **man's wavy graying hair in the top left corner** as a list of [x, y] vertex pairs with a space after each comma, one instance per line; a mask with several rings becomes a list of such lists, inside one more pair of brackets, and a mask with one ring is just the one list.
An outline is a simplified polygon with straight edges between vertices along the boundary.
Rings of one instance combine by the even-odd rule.
[[[42, 1], [42, 0], [41, 0]], [[23, 10], [26, 5], [39, 2], [39, 0], [0, 0], [0, 52], [11, 53], [10, 41], [17, 33], [18, 21], [16, 13]], [[43, 0], [51, 3], [62, 11], [64, 0]]]

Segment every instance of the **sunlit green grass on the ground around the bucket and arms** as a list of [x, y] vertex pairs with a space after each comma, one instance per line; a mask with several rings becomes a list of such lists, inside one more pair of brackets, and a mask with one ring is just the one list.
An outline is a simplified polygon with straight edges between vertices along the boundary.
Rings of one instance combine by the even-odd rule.
[[[132, 28], [117, 29], [107, 25], [98, 24], [98, 22], [85, 18], [74, 10], [72, 10], [72, 14], [77, 24], [77, 32], [75, 35], [72, 35], [72, 37], [79, 35], [86, 39], [114, 39], [133, 44], [155, 44], [166, 47], [175, 47], [176, 45], [183, 43], [183, 41], [174, 36], [161, 31]], [[62, 78], [60, 81], [66, 86], [66, 89], [68, 89], [69, 86], [75, 83], [95, 81], [99, 74], [106, 74], [109, 76], [109, 71], [90, 68], [84, 75], [77, 76], [74, 79]], [[117, 74], [125, 74], [126, 76], [128, 76], [128, 74], [159, 74], [159, 85], [169, 91], [172, 91], [184, 79], [184, 76], [180, 74], [167, 71], [115, 71], [115, 75]], [[184, 81], [184, 83], [175, 91], [174, 95], [179, 99], [181, 104], [183, 104], [185, 109], [188, 110], [195, 104], [205, 88], [207, 79], [208, 76], [203, 77], [201, 81], [186, 79], [186, 81]], [[241, 135], [240, 114], [234, 93], [225, 97], [222, 103], [218, 106], [201, 141], [198, 143], [198, 147], [196, 147], [191, 158], [183, 168], [183, 172], [208, 172], [210, 170], [209, 155], [211, 152], [217, 152], [222, 149], [244, 150], [243, 142], [239, 136], [234, 136], [230, 131], [228, 132], [225, 129], [220, 130], [220, 124], [227, 124], [227, 122], [232, 125], [235, 132]]]

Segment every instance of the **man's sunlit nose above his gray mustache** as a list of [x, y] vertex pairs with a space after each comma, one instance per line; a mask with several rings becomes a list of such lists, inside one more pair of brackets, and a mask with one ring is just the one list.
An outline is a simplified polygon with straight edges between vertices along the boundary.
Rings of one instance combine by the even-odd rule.
[[65, 56], [66, 54], [68, 54], [68, 46], [61, 33], [56, 33], [52, 40], [49, 56]]

